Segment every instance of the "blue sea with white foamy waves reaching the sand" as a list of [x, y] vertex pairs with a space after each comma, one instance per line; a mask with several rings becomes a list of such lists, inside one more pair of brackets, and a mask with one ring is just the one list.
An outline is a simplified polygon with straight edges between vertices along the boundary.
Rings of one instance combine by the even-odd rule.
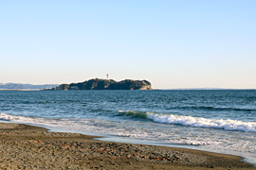
[[256, 164], [256, 90], [0, 91], [0, 120]]

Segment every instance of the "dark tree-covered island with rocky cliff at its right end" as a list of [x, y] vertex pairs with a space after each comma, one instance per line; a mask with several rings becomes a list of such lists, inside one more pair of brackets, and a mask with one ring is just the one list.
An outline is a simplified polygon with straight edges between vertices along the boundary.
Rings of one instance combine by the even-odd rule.
[[147, 80], [125, 79], [89, 79], [79, 83], [61, 84], [49, 90], [152, 90], [151, 83]]

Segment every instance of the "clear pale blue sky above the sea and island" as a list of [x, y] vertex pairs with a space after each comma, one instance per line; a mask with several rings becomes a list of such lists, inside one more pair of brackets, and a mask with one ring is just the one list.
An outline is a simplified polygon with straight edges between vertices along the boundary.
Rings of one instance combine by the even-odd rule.
[[0, 82], [256, 88], [256, 1], [0, 1]]

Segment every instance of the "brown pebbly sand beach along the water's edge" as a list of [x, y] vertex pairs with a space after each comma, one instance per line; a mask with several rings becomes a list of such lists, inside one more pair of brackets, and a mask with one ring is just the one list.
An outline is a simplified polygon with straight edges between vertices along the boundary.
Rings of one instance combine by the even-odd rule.
[[0, 169], [256, 170], [236, 156], [92, 138], [96, 137], [0, 123]]

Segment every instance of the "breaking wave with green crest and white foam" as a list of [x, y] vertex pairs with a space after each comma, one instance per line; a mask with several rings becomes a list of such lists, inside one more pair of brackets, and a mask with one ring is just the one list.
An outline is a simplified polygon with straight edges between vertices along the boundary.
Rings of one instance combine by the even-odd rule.
[[[242, 122], [237, 120], [206, 119], [203, 117], [182, 116], [177, 114], [161, 114], [149, 111], [119, 110], [124, 115], [146, 117], [160, 124], [181, 125], [186, 127], [220, 128], [225, 130], [237, 130], [256, 132], [256, 122]], [[138, 115], [137, 115], [138, 114]]]

